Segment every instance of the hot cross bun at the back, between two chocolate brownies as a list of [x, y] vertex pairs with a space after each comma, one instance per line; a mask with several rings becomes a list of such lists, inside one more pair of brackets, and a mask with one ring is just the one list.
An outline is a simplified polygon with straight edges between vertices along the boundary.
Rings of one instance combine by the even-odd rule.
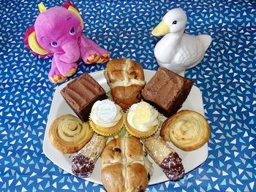
[[145, 85], [142, 66], [129, 58], [118, 58], [108, 62], [105, 77], [110, 85], [113, 101], [127, 110], [141, 100]]

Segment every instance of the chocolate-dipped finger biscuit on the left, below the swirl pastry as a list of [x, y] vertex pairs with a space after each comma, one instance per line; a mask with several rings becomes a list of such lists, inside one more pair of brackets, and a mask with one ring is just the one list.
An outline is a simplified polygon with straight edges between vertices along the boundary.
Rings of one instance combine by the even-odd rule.
[[90, 177], [94, 170], [94, 164], [99, 158], [99, 155], [102, 154], [105, 145], [105, 137], [94, 135], [91, 141], [72, 158], [72, 172], [81, 178]]

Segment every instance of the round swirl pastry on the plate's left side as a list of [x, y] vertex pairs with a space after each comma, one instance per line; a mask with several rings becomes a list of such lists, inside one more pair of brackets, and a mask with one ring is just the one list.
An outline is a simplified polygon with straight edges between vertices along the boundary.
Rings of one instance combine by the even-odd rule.
[[94, 131], [89, 123], [83, 123], [74, 115], [62, 115], [50, 125], [49, 137], [51, 144], [62, 153], [78, 152], [90, 141]]

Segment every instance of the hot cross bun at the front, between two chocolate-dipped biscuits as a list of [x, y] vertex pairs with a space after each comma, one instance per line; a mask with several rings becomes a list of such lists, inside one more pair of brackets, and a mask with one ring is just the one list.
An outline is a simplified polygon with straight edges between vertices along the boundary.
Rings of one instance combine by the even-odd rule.
[[153, 173], [153, 166], [144, 156], [136, 137], [119, 137], [105, 147], [101, 155], [102, 183], [111, 191], [144, 191]]

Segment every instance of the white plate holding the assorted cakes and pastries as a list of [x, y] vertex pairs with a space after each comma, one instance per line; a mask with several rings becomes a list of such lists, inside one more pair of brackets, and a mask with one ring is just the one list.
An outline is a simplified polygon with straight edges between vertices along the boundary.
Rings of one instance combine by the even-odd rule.
[[[144, 69], [144, 74], [146, 77], [146, 82], [148, 82], [151, 79], [151, 77], [153, 77], [153, 75], [155, 74], [155, 71]], [[107, 81], [105, 80], [105, 77], [103, 75], [103, 71], [93, 72], [91, 73], [91, 76], [94, 77], [94, 79], [97, 80], [97, 82], [99, 82], [100, 85], [102, 85], [102, 87], [105, 89], [106, 92], [110, 90], [107, 84]], [[48, 137], [50, 124], [53, 123], [53, 120], [55, 120], [56, 118], [64, 114], [75, 115], [75, 112], [73, 112], [72, 109], [69, 107], [69, 105], [66, 103], [66, 101], [64, 101], [60, 93], [61, 89], [64, 88], [64, 86], [66, 86], [67, 83], [68, 82], [56, 88], [56, 91], [53, 95], [53, 101], [50, 107], [50, 114], [49, 114], [46, 129], [45, 129], [43, 152], [50, 159], [50, 161], [53, 161], [53, 164], [56, 164], [61, 169], [64, 169], [66, 172], [69, 172], [70, 174], [72, 174], [72, 170], [71, 170], [72, 155], [70, 154], [64, 155], [59, 150], [56, 150], [56, 148], [50, 144], [50, 140]], [[182, 109], [194, 110], [204, 115], [203, 100], [202, 100], [202, 95], [200, 93], [199, 88], [195, 86], [192, 87], [192, 90], [190, 91], [189, 96], [187, 97], [187, 100], [184, 102], [181, 110]], [[199, 149], [193, 150], [190, 152], [180, 150], [177, 147], [175, 147], [172, 143], [169, 143], [169, 144], [170, 144], [170, 147], [173, 147], [173, 149], [176, 150], [178, 155], [181, 157], [186, 173], [190, 172], [192, 169], [195, 169], [200, 164], [203, 164], [203, 162], [206, 161], [206, 158], [208, 156], [207, 143], [203, 145], [203, 147], [200, 147]], [[149, 185], [167, 181], [168, 179], [165, 176], [164, 172], [162, 172], [162, 170], [151, 159], [150, 156], [149, 156], [149, 160], [153, 163], [153, 166], [154, 166], [154, 174], [151, 177]], [[93, 183], [102, 184], [101, 178], [100, 178], [100, 158], [95, 164], [94, 172], [91, 174], [91, 177], [86, 178], [86, 180], [91, 181]]]

